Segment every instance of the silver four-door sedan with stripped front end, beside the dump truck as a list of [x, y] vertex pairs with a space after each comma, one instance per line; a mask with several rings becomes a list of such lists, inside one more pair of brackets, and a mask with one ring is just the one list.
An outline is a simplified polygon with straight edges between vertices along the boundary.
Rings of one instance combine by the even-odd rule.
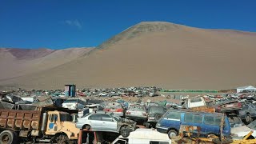
[[105, 112], [86, 114], [84, 117], [78, 118], [76, 126], [79, 129], [120, 133], [125, 138], [130, 135], [130, 131], [137, 128], [136, 122]]

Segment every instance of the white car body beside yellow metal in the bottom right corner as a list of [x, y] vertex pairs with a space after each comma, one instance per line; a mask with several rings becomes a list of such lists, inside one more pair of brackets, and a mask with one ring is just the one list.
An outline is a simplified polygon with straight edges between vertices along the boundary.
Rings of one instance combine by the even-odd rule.
[[238, 126], [231, 129], [231, 136], [234, 139], [242, 139], [244, 138], [248, 133], [250, 133], [251, 130], [254, 130], [253, 134], [249, 138], [256, 138], [256, 120], [254, 122], [250, 122], [247, 126]]

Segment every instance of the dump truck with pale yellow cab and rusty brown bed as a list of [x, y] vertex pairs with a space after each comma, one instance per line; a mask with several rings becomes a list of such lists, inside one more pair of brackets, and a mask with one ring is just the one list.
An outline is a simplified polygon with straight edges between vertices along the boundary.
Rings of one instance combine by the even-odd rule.
[[75, 143], [79, 129], [72, 122], [72, 113], [54, 106], [35, 110], [0, 109], [0, 143]]

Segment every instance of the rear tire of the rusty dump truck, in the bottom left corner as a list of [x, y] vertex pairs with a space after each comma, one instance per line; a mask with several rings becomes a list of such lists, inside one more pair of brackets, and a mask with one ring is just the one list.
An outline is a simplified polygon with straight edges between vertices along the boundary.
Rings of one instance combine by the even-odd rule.
[[15, 144], [15, 134], [10, 130], [4, 130], [0, 134], [0, 143], [1, 144]]

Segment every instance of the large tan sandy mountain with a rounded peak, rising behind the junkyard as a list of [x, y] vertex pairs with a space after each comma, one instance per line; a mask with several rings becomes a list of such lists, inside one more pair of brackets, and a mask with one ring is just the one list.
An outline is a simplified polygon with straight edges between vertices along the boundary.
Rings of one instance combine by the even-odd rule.
[[0, 81], [26, 89], [161, 86], [229, 89], [255, 85], [256, 33], [141, 22], [90, 54], [50, 70]]

